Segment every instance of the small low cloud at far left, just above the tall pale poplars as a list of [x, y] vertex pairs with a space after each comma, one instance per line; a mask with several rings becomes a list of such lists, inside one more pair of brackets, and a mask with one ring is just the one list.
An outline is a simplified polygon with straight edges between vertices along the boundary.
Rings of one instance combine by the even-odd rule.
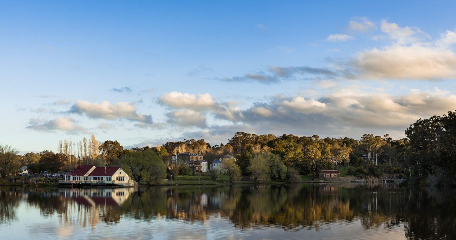
[[29, 126], [26, 129], [43, 131], [43, 132], [52, 132], [55, 130], [64, 131], [67, 133], [86, 133], [90, 134], [88, 130], [85, 130], [82, 126], [76, 124], [76, 121], [69, 117], [58, 117], [55, 120], [38, 120], [32, 119], [29, 121]]

